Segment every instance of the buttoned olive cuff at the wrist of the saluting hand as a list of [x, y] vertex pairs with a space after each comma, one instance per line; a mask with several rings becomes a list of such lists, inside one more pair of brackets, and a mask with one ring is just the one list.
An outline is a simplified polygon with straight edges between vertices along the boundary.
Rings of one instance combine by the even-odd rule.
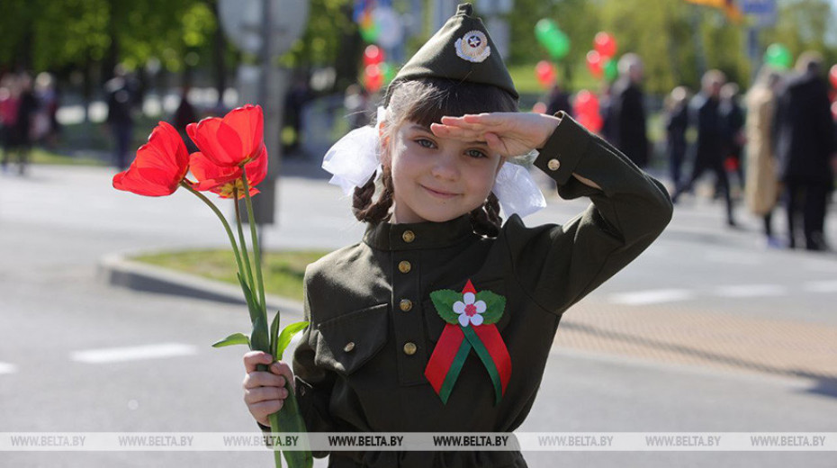
[[566, 112], [556, 112], [561, 123], [546, 140], [544, 148], [538, 148], [535, 166], [555, 179], [559, 185], [566, 184], [575, 172], [581, 157], [590, 145], [590, 132], [572, 120]]

